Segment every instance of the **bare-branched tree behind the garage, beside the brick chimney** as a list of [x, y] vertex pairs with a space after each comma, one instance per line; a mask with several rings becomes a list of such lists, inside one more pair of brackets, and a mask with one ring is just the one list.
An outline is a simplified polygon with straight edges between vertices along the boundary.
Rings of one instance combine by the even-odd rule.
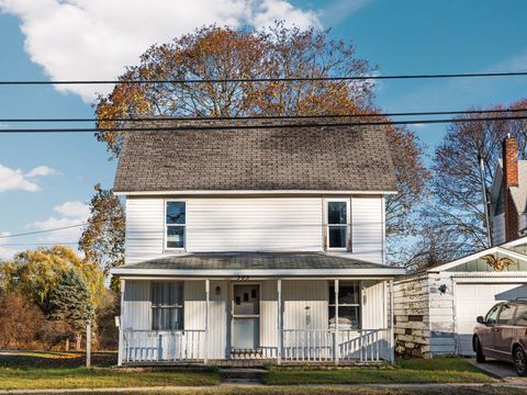
[[[527, 100], [515, 102], [509, 109], [527, 109]], [[482, 111], [487, 110], [505, 108]], [[527, 120], [469, 120], [519, 115], [526, 116], [527, 111], [463, 115], [459, 117], [461, 122], [448, 127], [435, 151], [428, 199], [421, 218], [422, 239], [408, 259], [410, 264], [438, 263], [489, 247], [482, 188], [491, 188], [507, 134], [518, 139], [519, 157], [527, 157]], [[483, 184], [480, 158], [484, 166]]]

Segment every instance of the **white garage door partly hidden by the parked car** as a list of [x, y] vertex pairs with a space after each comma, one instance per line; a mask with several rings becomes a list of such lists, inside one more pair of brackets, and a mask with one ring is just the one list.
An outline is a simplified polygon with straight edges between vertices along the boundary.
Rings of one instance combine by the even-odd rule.
[[[526, 279], [527, 280], [527, 279]], [[456, 321], [459, 353], [472, 356], [472, 334], [475, 317], [484, 316], [497, 302], [527, 297], [527, 284], [522, 283], [457, 283]]]

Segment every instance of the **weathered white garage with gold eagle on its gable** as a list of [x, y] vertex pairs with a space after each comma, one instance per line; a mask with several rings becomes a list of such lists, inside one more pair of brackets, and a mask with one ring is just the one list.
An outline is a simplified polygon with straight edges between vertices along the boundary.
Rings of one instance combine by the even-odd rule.
[[400, 356], [472, 356], [475, 318], [527, 298], [527, 237], [402, 276], [394, 283]]

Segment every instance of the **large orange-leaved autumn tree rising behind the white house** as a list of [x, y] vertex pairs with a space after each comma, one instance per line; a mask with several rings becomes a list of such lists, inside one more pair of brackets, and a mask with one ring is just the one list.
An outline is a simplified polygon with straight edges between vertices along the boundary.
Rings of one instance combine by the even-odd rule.
[[[329, 37], [328, 31], [273, 26], [253, 31], [206, 26], [153, 45], [141, 63], [128, 67], [119, 83], [96, 104], [97, 138], [111, 157], [122, 145], [114, 119], [162, 116], [281, 116], [335, 115], [378, 112], [371, 80], [225, 81], [166, 83], [150, 80], [273, 79], [295, 77], [367, 76], [374, 69], [357, 58], [355, 47]], [[117, 132], [115, 132], [117, 131]], [[406, 128], [386, 127], [396, 167], [400, 194], [388, 202], [388, 232], [395, 237], [413, 232], [412, 207], [418, 201], [427, 172], [422, 146]]]

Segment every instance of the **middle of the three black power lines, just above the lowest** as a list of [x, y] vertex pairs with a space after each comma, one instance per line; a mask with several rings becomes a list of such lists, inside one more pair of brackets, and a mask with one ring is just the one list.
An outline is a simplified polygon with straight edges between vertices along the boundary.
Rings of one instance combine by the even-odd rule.
[[44, 123], [44, 122], [152, 122], [152, 121], [226, 121], [226, 120], [311, 120], [311, 119], [339, 119], [339, 117], [375, 117], [375, 116], [428, 116], [428, 115], [468, 115], [519, 113], [527, 109], [503, 110], [455, 110], [455, 111], [424, 111], [424, 112], [392, 112], [392, 113], [359, 113], [359, 114], [321, 114], [321, 115], [251, 115], [251, 116], [150, 116], [150, 117], [105, 117], [105, 119], [0, 119], [9, 123]]

